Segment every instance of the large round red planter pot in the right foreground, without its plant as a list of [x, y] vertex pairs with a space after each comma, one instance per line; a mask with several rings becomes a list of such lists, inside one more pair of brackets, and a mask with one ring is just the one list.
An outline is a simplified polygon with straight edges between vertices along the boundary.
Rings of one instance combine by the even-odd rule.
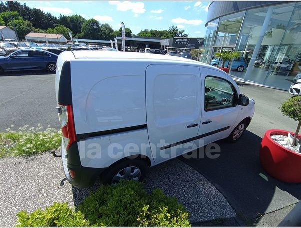
[[[260, 162], [272, 177], [288, 183], [301, 183], [301, 154], [276, 143], [270, 136], [288, 135], [285, 130], [271, 129], [265, 132], [260, 148]], [[294, 132], [290, 132], [294, 134]], [[300, 138], [301, 135], [298, 135]]]

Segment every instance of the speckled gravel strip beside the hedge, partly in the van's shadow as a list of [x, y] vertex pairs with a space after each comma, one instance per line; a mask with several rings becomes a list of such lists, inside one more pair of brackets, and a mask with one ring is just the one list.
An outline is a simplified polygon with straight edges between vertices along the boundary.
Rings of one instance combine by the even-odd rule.
[[[144, 182], [150, 191], [160, 187], [167, 195], [176, 196], [190, 212], [191, 222], [235, 217], [219, 191], [178, 159], [151, 168]], [[72, 187], [65, 179], [61, 159], [50, 153], [0, 159], [0, 183], [0, 226], [15, 225], [20, 210], [32, 212], [54, 201], [78, 205], [98, 187], [97, 183], [87, 189]]]

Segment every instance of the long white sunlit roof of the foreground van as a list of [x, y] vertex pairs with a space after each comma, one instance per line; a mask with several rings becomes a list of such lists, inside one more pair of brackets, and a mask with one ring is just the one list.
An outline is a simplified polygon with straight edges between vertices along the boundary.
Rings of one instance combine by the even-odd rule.
[[74, 57], [76, 59], [81, 58], [105, 58], [105, 59], [145, 59], [145, 60], [166, 60], [166, 61], [181, 61], [181, 62], [187, 62], [187, 63], [196, 63], [199, 65], [206, 65], [210, 66], [208, 64], [204, 64], [195, 60], [186, 59], [183, 57], [178, 56], [170, 56], [170, 55], [158, 55], [158, 54], [151, 54], [151, 53], [140, 53], [140, 52], [109, 52], [109, 51], [72, 51], [74, 54]]

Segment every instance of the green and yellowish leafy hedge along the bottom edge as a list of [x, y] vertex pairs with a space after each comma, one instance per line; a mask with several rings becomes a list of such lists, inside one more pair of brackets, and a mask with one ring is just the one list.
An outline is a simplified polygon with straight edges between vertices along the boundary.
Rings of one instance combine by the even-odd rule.
[[190, 226], [188, 212], [175, 197], [160, 189], [149, 194], [137, 181], [103, 185], [76, 211], [54, 203], [44, 211], [17, 216], [18, 226]]

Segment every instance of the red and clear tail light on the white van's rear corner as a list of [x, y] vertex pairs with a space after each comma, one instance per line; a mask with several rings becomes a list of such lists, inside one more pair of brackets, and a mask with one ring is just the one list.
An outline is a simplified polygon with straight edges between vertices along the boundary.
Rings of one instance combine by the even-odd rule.
[[59, 104], [57, 108], [64, 146], [67, 149], [76, 141], [72, 105]]

